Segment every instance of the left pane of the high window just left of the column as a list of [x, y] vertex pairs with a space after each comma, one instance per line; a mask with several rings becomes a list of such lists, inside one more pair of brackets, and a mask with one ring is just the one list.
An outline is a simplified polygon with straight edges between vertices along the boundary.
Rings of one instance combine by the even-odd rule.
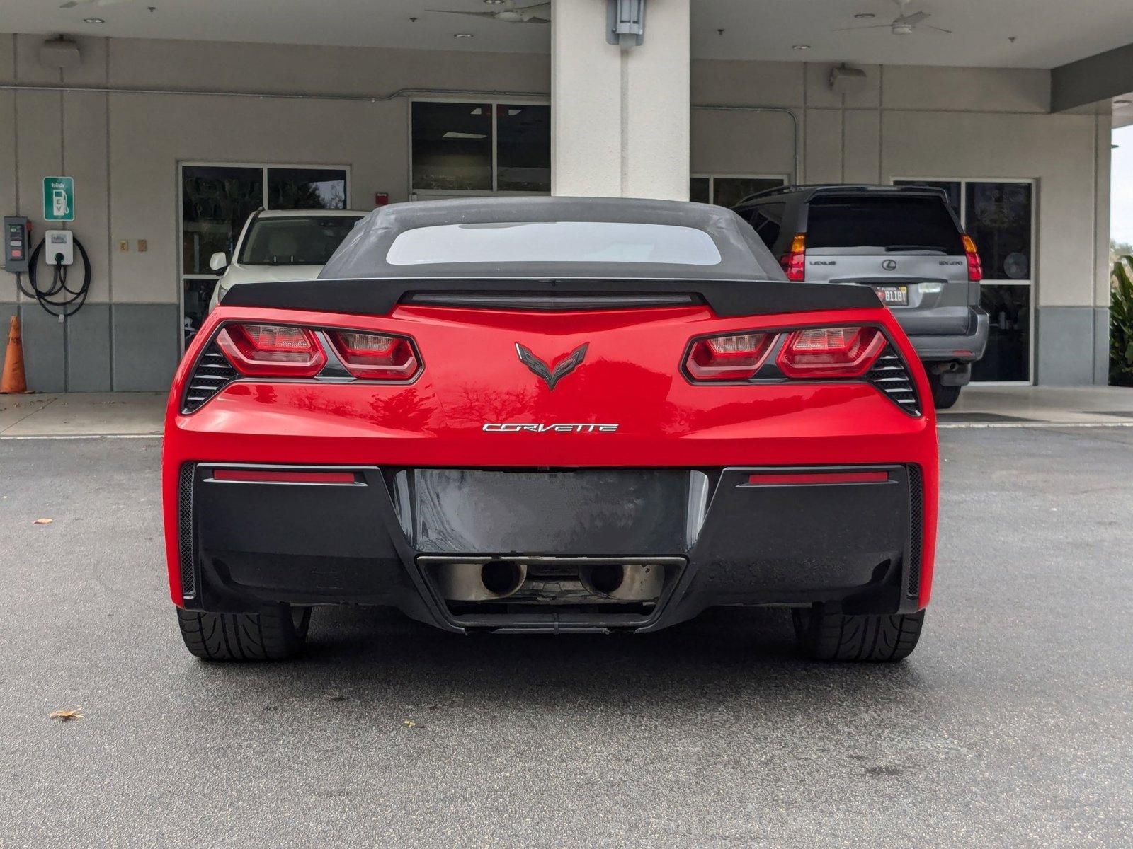
[[415, 102], [412, 157], [414, 189], [491, 191], [491, 104]]

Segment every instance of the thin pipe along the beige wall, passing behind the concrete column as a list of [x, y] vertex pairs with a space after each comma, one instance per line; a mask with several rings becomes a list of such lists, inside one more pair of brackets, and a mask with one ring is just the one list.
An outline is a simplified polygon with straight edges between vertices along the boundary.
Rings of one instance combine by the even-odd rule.
[[[389, 94], [322, 94], [305, 92], [240, 92], [208, 91], [204, 88], [145, 88], [128, 86], [66, 86], [40, 85], [32, 83], [0, 83], [3, 92], [88, 92], [93, 94], [160, 94], [160, 95], [197, 95], [201, 97], [254, 97], [257, 100], [321, 100], [351, 101], [356, 103], [385, 103], [398, 97], [419, 95], [448, 95], [451, 97], [523, 97], [546, 100], [546, 92], [509, 92], [500, 88], [398, 88]], [[791, 119], [791, 149], [793, 153], [793, 171], [791, 179], [799, 182], [799, 117], [785, 106], [744, 106], [731, 104], [704, 103], [692, 104], [692, 109], [706, 109], [716, 112], [772, 112], [784, 114]]]

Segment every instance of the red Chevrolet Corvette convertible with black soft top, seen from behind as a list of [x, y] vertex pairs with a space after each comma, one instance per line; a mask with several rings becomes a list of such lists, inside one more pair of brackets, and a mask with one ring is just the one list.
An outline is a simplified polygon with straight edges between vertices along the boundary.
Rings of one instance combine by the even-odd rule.
[[651, 632], [790, 607], [803, 652], [917, 645], [925, 372], [868, 285], [789, 283], [715, 206], [523, 198], [364, 218], [233, 288], [163, 456], [189, 651], [298, 652], [320, 604], [451, 632]]

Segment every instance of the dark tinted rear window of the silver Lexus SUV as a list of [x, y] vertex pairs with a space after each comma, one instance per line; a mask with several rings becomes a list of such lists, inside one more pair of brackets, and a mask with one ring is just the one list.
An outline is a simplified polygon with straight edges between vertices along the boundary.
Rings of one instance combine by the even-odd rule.
[[807, 212], [807, 250], [811, 248], [964, 255], [944, 198], [900, 195], [816, 197]]

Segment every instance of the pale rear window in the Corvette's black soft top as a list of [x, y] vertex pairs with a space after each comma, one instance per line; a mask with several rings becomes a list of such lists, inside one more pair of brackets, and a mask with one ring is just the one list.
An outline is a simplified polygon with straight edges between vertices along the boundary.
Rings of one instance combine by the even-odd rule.
[[718, 265], [712, 237], [696, 228], [602, 221], [438, 224], [399, 233], [390, 265], [443, 263], [659, 263]]

